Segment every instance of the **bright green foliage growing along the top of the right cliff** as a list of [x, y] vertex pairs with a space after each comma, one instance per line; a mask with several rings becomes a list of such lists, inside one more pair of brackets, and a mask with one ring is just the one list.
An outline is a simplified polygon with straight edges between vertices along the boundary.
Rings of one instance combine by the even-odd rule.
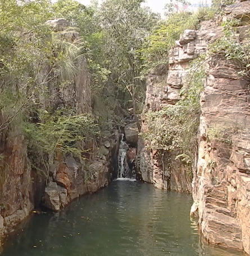
[[201, 21], [213, 18], [215, 11], [212, 8], [201, 7], [192, 12], [179, 12], [171, 14], [155, 28], [146, 38], [143, 47], [138, 50], [138, 55], [144, 62], [143, 75], [151, 69], [161, 69], [168, 64], [170, 49], [179, 40], [185, 29], [198, 29]]

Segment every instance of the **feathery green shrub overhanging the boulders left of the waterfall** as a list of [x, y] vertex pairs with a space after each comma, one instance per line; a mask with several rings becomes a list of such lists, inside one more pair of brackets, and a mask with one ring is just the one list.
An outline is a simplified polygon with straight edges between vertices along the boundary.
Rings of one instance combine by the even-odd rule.
[[60, 149], [64, 154], [71, 152], [81, 158], [84, 151], [78, 142], [96, 140], [100, 133], [96, 119], [90, 114], [75, 115], [73, 110], [61, 109], [40, 116], [39, 123], [26, 122], [24, 131], [30, 147], [49, 155]]

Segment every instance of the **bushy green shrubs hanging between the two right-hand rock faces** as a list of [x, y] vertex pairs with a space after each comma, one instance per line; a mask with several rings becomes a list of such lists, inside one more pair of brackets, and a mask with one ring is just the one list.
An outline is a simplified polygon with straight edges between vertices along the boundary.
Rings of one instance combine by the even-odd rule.
[[151, 149], [178, 151], [180, 154], [177, 158], [186, 163], [192, 163], [197, 146], [201, 114], [199, 101], [203, 79], [206, 78], [202, 61], [203, 59], [198, 59], [193, 62], [187, 77], [189, 84], [181, 89], [181, 100], [176, 105], [147, 113], [148, 131], [142, 134], [151, 142]]

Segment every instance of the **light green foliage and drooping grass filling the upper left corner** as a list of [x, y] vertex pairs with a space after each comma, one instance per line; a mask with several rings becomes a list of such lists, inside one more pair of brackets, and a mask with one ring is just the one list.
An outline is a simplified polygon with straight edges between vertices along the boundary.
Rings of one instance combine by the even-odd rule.
[[72, 28], [55, 33], [44, 24], [52, 16], [50, 1], [0, 3], [0, 133], [5, 133], [74, 80], [83, 43]]

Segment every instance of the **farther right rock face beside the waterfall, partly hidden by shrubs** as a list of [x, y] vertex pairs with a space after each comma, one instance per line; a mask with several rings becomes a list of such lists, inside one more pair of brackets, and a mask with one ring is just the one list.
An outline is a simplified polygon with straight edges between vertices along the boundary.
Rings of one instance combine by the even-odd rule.
[[[152, 72], [148, 75], [144, 111], [159, 111], [165, 106], [175, 105], [180, 100], [180, 89], [185, 86], [184, 77], [190, 61], [206, 53], [208, 43], [215, 41], [221, 34], [222, 28], [218, 28], [213, 21], [202, 23], [198, 31], [185, 30], [170, 52], [168, 72]], [[143, 122], [142, 132], [146, 130], [147, 124]], [[178, 152], [167, 154], [164, 165], [169, 168], [163, 174], [163, 160], [159, 158], [157, 150], [147, 149], [149, 143], [142, 139], [138, 142], [138, 170], [142, 179], [157, 188], [191, 192], [192, 170], [175, 159]]]

